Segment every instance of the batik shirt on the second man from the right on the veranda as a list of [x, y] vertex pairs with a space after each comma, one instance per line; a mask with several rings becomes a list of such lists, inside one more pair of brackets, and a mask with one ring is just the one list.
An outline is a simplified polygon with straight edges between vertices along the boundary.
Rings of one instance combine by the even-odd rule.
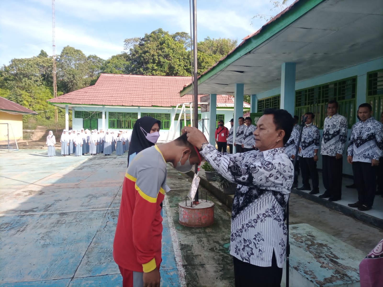
[[324, 119], [321, 155], [342, 154], [347, 141], [347, 119], [340, 114]]

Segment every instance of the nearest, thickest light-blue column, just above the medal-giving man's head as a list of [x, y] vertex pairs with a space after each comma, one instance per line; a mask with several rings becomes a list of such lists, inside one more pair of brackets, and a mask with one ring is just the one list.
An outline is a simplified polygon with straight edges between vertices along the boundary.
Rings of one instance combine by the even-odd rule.
[[292, 116], [295, 110], [295, 63], [283, 63], [281, 74], [281, 109]]

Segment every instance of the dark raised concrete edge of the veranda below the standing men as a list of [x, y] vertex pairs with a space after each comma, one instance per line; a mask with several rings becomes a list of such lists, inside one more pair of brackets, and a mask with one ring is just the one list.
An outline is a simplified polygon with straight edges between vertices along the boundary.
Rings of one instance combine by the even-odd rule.
[[[187, 173], [188, 176], [193, 178], [194, 172], [189, 171]], [[222, 202], [224, 205], [232, 208], [233, 205], [233, 197], [231, 197], [229, 194], [224, 194], [221, 189], [217, 188], [213, 184], [210, 183], [207, 179], [200, 177], [200, 185], [206, 188], [211, 194], [213, 194], [217, 199]], [[368, 225], [371, 225], [373, 227], [383, 229], [383, 219], [379, 219], [375, 216], [365, 214], [364, 212], [360, 212], [359, 210], [351, 209], [350, 207], [337, 204], [335, 202], [331, 202], [325, 199], [321, 199], [318, 196], [314, 196], [311, 194], [308, 194], [307, 192], [297, 190], [295, 188], [291, 189], [291, 193], [296, 194], [300, 197], [303, 197], [304, 199], [308, 199], [310, 201], [313, 201], [315, 203], [321, 204], [329, 209], [335, 210], [337, 212], [340, 212], [344, 215], [347, 215], [349, 217], [352, 217], [354, 219], [360, 220], [364, 223], [367, 223]]]

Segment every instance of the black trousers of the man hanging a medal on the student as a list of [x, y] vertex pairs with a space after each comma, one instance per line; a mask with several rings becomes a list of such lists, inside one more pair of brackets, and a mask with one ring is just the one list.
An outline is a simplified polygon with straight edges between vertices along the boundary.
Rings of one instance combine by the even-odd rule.
[[255, 266], [233, 257], [236, 287], [280, 287], [282, 268], [277, 266], [273, 253], [271, 267]]

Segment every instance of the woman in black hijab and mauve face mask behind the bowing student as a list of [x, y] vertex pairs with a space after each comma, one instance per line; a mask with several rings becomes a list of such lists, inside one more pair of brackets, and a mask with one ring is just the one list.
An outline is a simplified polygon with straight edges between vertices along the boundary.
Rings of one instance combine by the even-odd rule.
[[129, 162], [137, 153], [152, 147], [160, 136], [161, 122], [154, 117], [141, 117], [134, 124], [128, 152]]

